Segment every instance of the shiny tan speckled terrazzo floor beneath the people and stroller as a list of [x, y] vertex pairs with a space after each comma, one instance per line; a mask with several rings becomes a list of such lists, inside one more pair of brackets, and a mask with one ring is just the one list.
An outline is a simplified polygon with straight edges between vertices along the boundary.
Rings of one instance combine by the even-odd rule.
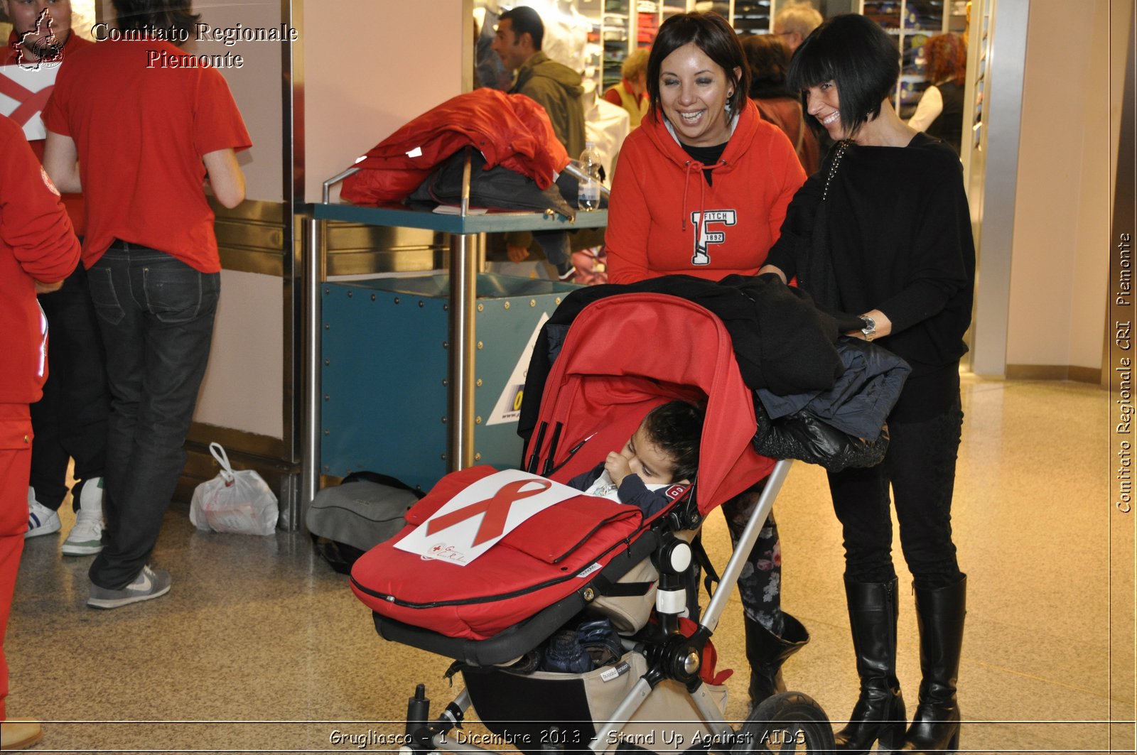
[[[1112, 639], [1109, 622], [1111, 590], [1131, 620], [1132, 522], [1113, 522], [1111, 561], [1107, 409], [1095, 387], [964, 382], [961, 752], [1134, 749], [1131, 621], [1114, 611]], [[823, 473], [796, 465], [775, 511], [783, 605], [813, 634], [786, 678], [839, 720], [856, 679]], [[65, 532], [69, 524], [68, 514]], [[449, 662], [381, 640], [302, 533], [200, 533], [175, 505], [156, 551], [174, 576], [171, 594], [107, 612], [84, 606], [90, 557], [63, 558], [60, 537], [27, 541], [6, 644], [9, 714], [47, 722], [38, 752], [379, 752], [391, 749], [382, 737], [401, 731], [416, 682], [426, 682], [435, 715], [451, 699], [441, 677]], [[720, 516], [706, 539], [722, 563]], [[914, 702], [910, 606], [901, 608], [899, 675]], [[728, 717], [744, 717], [738, 608], [714, 639], [720, 666], [740, 669], [728, 682]]]

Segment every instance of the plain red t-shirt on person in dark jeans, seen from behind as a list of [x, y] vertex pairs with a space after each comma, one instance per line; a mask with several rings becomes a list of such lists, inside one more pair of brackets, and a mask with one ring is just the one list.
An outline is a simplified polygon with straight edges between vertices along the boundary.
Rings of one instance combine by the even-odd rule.
[[115, 239], [165, 251], [202, 273], [221, 271], [214, 214], [202, 190], [208, 152], [252, 146], [214, 68], [148, 67], [158, 40], [107, 41], [59, 72], [43, 111], [48, 131], [75, 141], [86, 197], [83, 265]]

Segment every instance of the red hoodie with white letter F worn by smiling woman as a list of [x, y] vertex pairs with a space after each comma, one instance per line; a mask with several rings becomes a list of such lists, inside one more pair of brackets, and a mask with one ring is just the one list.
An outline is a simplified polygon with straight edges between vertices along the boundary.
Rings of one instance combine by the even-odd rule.
[[[713, 172], [709, 186], [704, 168]], [[695, 161], [653, 110], [620, 150], [605, 232], [608, 280], [753, 275], [803, 183], [794, 146], [749, 100], [713, 166]]]

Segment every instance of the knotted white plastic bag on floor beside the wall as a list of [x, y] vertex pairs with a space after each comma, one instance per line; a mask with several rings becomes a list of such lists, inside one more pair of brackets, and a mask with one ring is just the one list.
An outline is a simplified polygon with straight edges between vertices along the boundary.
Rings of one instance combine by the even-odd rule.
[[268, 483], [252, 470], [234, 472], [221, 443], [209, 443], [209, 453], [221, 464], [221, 472], [193, 489], [190, 500], [193, 525], [236, 534], [275, 532], [280, 507]]

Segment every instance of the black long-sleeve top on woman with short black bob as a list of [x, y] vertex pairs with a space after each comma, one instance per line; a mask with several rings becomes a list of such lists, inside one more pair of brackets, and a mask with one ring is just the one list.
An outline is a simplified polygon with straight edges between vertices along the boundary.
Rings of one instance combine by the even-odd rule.
[[819, 304], [888, 316], [891, 333], [875, 342], [912, 366], [891, 418], [926, 418], [953, 399], [968, 350], [976, 250], [958, 157], [923, 133], [904, 148], [849, 144], [825, 191], [835, 154], [794, 197], [766, 263], [792, 277], [825, 234], [839, 301]]

